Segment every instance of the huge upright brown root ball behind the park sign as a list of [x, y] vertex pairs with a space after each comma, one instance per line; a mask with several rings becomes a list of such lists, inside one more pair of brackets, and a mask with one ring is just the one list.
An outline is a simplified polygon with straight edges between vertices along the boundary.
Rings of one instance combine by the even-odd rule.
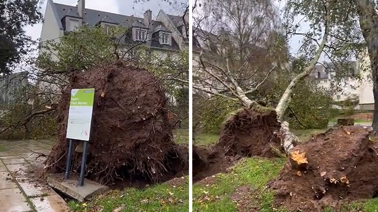
[[[86, 177], [103, 184], [138, 179], [158, 182], [187, 174], [188, 148], [172, 140], [166, 96], [157, 78], [121, 62], [75, 72], [58, 106], [59, 143], [45, 163], [62, 173], [67, 160], [66, 139], [70, 91], [95, 88], [93, 122]], [[81, 141], [74, 141], [74, 149]], [[73, 172], [80, 172], [82, 153], [74, 152]]]

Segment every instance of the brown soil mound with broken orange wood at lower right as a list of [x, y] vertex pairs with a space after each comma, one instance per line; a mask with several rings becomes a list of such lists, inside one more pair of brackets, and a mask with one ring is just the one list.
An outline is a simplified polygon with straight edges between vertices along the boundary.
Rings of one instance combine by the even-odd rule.
[[368, 129], [344, 126], [316, 135], [294, 147], [304, 152], [306, 167], [290, 161], [270, 187], [276, 204], [289, 210], [320, 212], [325, 206], [375, 197], [378, 191], [378, 144]]

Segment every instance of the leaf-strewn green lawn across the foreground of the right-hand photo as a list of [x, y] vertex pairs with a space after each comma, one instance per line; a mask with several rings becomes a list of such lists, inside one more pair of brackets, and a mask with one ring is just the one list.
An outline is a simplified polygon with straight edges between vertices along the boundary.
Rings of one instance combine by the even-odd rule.
[[[261, 212], [294, 212], [274, 207], [274, 192], [266, 188], [266, 183], [277, 176], [284, 164], [283, 158], [245, 158], [229, 173], [209, 177], [214, 178], [209, 184], [194, 184], [193, 212], [236, 212], [250, 208]], [[242, 193], [245, 198], [239, 204], [242, 208], [238, 208], [240, 197], [234, 194], [243, 187], [249, 187], [252, 192]], [[323, 211], [336, 212], [330, 207]], [[344, 205], [339, 212], [378, 212], [378, 198]]]

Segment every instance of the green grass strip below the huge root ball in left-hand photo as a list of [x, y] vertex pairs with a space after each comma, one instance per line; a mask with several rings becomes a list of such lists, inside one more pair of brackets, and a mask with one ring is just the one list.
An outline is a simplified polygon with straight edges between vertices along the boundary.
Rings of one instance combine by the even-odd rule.
[[81, 204], [71, 201], [68, 206], [76, 212], [187, 212], [189, 177], [185, 177], [184, 182], [177, 186], [162, 183], [143, 189], [112, 190], [91, 202]]

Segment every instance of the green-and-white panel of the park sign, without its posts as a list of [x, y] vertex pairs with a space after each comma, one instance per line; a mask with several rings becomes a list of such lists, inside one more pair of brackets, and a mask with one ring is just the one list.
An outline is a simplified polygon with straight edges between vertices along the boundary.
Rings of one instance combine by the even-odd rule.
[[95, 89], [72, 89], [66, 138], [89, 141]]

